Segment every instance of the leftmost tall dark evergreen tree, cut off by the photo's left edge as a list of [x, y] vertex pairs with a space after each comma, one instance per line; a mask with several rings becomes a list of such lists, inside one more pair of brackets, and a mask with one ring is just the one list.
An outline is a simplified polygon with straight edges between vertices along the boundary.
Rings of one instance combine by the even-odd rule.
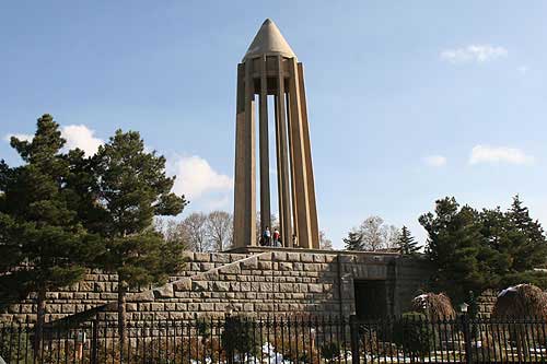
[[78, 218], [70, 158], [50, 115], [43, 115], [32, 141], [11, 138], [23, 164], [0, 165], [0, 297], [4, 302], [34, 292], [39, 345], [46, 293], [83, 278], [100, 247]]

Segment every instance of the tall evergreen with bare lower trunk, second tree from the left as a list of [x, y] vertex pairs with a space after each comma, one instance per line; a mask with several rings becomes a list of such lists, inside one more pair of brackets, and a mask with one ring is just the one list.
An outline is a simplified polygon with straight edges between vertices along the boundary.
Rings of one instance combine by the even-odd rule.
[[144, 151], [136, 131], [117, 130], [93, 157], [103, 221], [93, 221], [107, 247], [102, 267], [118, 274], [118, 331], [125, 342], [126, 293], [163, 284], [181, 269], [184, 244], [166, 242], [153, 228], [156, 215], [176, 215], [187, 203], [171, 192], [174, 177], [165, 175], [165, 158]]

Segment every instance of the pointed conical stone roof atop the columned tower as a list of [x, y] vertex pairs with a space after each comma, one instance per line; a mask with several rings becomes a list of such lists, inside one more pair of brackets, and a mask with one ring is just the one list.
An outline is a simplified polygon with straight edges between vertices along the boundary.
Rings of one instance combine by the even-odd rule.
[[281, 35], [281, 32], [270, 19], [264, 21], [263, 26], [255, 35], [253, 43], [248, 46], [247, 52], [243, 57], [243, 61], [259, 57], [263, 55], [281, 55], [283, 57], [296, 57], [292, 51], [291, 46]]

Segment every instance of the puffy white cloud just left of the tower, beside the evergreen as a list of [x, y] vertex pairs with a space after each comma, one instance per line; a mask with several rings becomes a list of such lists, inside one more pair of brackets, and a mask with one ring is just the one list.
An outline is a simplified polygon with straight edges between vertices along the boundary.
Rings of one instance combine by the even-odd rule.
[[170, 163], [170, 172], [176, 175], [173, 191], [184, 195], [190, 201], [206, 193], [229, 192], [233, 189], [231, 177], [219, 174], [197, 155], [177, 157]]

